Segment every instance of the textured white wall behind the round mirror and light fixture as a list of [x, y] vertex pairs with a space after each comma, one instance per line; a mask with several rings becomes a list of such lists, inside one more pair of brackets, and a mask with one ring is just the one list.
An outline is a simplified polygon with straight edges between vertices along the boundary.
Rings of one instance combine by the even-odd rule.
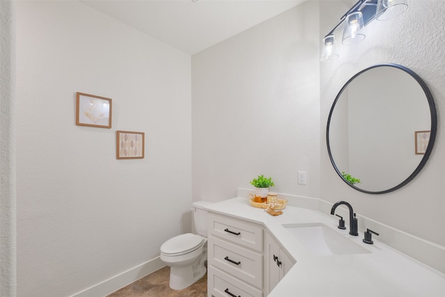
[[[342, 15], [350, 1], [324, 1], [320, 6], [320, 37], [334, 26], [332, 15]], [[444, 1], [409, 1], [405, 14], [366, 26], [366, 39], [354, 47], [340, 46], [340, 58], [321, 64], [321, 198], [349, 201], [357, 214], [445, 246], [443, 48]], [[409, 67], [426, 82], [435, 99], [438, 129], [435, 147], [423, 170], [412, 182], [392, 193], [369, 195], [341, 182], [325, 147], [325, 123], [337, 93], [353, 74], [378, 63]], [[414, 138], [413, 138], [414, 141]], [[391, 170], [391, 168], [382, 168]]]

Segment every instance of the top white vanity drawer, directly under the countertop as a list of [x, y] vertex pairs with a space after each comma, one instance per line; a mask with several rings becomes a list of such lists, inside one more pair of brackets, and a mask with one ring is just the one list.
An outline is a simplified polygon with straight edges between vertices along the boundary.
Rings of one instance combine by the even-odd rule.
[[254, 223], [228, 216], [209, 214], [209, 234], [259, 252], [263, 250], [263, 229]]

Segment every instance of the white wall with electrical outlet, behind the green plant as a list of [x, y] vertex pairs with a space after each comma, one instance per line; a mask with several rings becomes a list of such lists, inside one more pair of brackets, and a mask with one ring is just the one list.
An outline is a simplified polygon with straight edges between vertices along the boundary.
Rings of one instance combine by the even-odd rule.
[[318, 31], [309, 1], [192, 57], [194, 200], [235, 197], [259, 174], [319, 196]]

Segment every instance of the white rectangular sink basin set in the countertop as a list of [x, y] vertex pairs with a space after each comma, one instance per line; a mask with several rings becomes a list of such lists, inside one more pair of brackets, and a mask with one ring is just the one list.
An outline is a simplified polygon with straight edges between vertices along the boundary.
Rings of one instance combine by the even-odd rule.
[[366, 248], [327, 227], [323, 223], [283, 225], [300, 243], [314, 255], [350, 255], [370, 253]]

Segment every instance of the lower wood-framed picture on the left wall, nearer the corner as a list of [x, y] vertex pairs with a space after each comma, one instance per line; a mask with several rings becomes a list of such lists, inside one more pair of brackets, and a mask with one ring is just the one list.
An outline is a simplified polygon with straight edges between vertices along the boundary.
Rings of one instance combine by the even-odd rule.
[[144, 159], [145, 133], [116, 131], [117, 159]]

